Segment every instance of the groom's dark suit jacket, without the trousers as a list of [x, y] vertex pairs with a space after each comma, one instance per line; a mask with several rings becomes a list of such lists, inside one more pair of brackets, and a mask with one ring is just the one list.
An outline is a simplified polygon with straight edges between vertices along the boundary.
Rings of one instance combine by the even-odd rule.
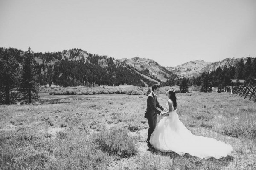
[[160, 108], [163, 111], [163, 107], [158, 103], [157, 96], [151, 92], [148, 94], [147, 99], [147, 110], [145, 111], [145, 118], [147, 119], [155, 119], [157, 117], [157, 114], [160, 114], [161, 111], [157, 110], [157, 107]]

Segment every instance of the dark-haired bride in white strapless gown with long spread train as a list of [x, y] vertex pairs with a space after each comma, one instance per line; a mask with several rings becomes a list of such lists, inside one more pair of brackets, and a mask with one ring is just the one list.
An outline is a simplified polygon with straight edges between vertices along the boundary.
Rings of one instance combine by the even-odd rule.
[[150, 144], [163, 152], [176, 152], [183, 156], [188, 153], [199, 158], [221, 158], [231, 153], [232, 146], [213, 138], [193, 135], [176, 113], [177, 102], [174, 91], [166, 92], [169, 111], [161, 119], [150, 137]]

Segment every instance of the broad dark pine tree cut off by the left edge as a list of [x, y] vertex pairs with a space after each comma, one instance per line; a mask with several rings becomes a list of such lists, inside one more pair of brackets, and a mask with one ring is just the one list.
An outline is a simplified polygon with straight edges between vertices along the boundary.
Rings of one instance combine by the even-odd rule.
[[0, 49], [0, 103], [15, 102], [15, 91], [18, 87], [20, 67], [16, 57], [20, 52], [13, 48]]

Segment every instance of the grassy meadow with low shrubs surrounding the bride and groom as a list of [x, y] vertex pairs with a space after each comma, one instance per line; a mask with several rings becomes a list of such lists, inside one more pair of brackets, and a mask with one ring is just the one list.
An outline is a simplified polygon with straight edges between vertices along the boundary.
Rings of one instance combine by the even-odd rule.
[[[179, 118], [193, 134], [233, 147], [225, 158], [200, 159], [148, 150], [145, 94], [49, 91], [33, 105], [0, 105], [0, 170], [256, 169], [256, 103], [234, 94], [176, 94]], [[167, 107], [165, 94], [158, 101]]]

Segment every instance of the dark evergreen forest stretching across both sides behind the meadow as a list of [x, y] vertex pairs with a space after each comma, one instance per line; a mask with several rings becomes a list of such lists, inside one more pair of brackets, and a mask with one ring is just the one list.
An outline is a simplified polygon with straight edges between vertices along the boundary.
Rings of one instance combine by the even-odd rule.
[[[184, 91], [191, 85], [201, 86], [202, 91], [207, 91], [209, 87], [221, 89], [227, 85], [241, 85], [239, 79], [245, 80], [242, 85], [255, 85], [251, 79], [256, 78], [256, 58], [251, 57], [241, 58], [231, 67], [218, 67], [215, 71], [203, 72], [190, 79], [173, 74], [157, 64], [165, 72], [163, 77], [168, 79], [162, 82], [148, 69], [136, 70], [113, 57], [90, 54], [76, 48], [46, 53], [35, 53], [30, 48], [26, 52], [15, 48], [0, 48], [0, 65], [0, 100], [14, 98], [13, 95], [20, 91], [24, 96], [28, 92], [31, 101], [31, 96], [36, 98], [38, 86], [47, 84], [64, 87], [124, 84], [147, 87], [160, 82], [160, 86], [181, 85]], [[237, 81], [233, 83], [231, 79]]]

